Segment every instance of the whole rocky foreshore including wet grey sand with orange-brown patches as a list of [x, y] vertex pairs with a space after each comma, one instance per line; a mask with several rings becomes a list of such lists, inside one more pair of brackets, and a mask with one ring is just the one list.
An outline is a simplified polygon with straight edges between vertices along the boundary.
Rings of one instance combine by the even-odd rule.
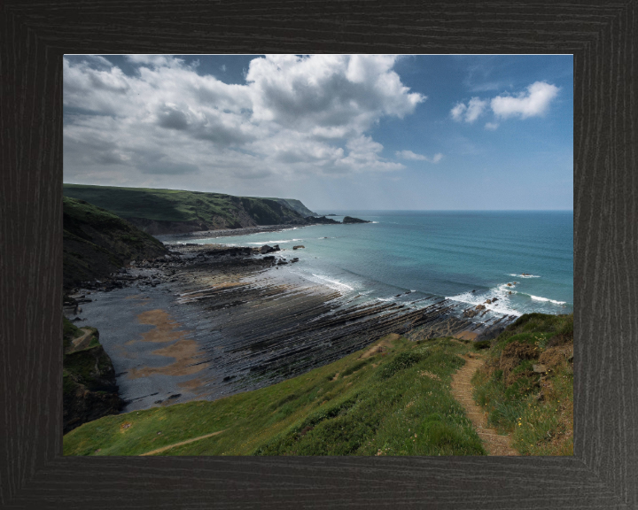
[[[100, 330], [127, 401], [125, 413], [278, 383], [389, 333], [423, 327], [424, 337], [479, 340], [494, 337], [514, 319], [463, 319], [459, 304], [444, 298], [406, 304], [346, 300], [338, 290], [290, 271], [293, 264], [281, 262], [285, 251], [259, 255], [214, 244], [169, 248], [165, 259], [135, 262], [116, 274], [112, 290], [81, 292], [82, 321], [76, 325]], [[303, 250], [295, 256], [303, 258]]]

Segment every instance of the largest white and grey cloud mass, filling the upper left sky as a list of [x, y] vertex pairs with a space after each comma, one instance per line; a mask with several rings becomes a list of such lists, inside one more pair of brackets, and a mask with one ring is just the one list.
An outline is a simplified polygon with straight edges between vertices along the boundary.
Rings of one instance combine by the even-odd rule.
[[214, 174], [222, 183], [399, 170], [367, 131], [426, 99], [401, 83], [387, 55], [253, 58], [244, 84], [171, 56], [127, 58], [134, 73], [102, 57], [64, 59], [67, 175], [90, 167]]

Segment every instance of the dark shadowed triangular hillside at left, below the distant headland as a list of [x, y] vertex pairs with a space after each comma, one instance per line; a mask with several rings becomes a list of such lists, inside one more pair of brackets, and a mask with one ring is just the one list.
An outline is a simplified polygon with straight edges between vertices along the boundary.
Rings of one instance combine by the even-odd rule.
[[155, 258], [167, 249], [128, 221], [83, 200], [63, 199], [64, 288], [104, 278], [131, 259]]

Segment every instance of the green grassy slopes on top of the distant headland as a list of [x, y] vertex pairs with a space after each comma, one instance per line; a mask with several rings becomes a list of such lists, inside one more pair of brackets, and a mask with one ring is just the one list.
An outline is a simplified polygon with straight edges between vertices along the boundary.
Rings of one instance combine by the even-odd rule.
[[301, 218], [307, 210], [298, 200], [233, 197], [221, 193], [181, 189], [120, 188], [64, 184], [65, 197], [82, 199], [121, 218], [159, 221], [225, 222], [229, 228], [241, 227], [239, 217], [247, 214], [258, 225], [280, 223], [282, 217]]

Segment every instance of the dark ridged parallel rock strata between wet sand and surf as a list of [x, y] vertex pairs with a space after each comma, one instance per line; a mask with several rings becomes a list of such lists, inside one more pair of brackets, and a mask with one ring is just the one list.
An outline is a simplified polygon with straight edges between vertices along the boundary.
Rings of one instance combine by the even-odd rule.
[[[453, 320], [450, 314], [460, 304], [442, 298], [401, 298], [404, 301], [397, 303], [344, 300], [323, 285], [299, 277], [291, 280], [283, 258], [258, 251], [174, 245], [167, 257], [136, 261], [127, 273], [113, 274], [116, 282], [134, 285], [145, 294], [155, 286], [155, 292], [175, 293], [175, 321], [197, 326], [192, 338], [200, 346], [198, 364], [207, 366], [198, 374], [207, 398], [300, 375], [389, 333], [430, 324], [432, 335], [474, 328], [480, 338], [499, 327], [495, 320], [476, 325]], [[271, 267], [280, 271], [271, 272]], [[104, 282], [101, 285], [105, 288]]]

